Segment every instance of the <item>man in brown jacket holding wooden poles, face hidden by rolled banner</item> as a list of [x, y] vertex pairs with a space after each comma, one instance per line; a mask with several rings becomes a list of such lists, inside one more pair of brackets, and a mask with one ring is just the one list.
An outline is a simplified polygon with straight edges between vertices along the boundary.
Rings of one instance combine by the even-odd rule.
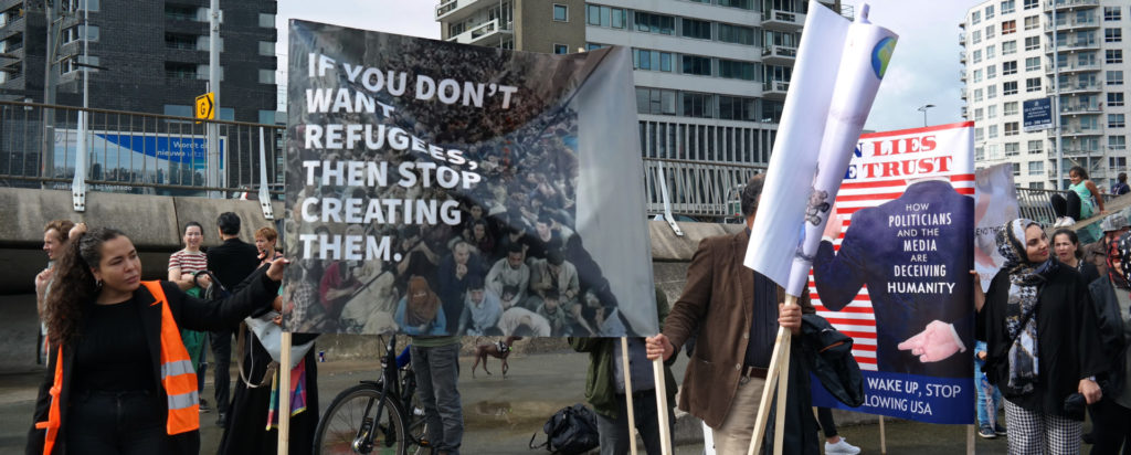
[[679, 406], [714, 430], [719, 454], [750, 446], [778, 325], [797, 335], [802, 312], [813, 312], [809, 295], [783, 307], [785, 290], [742, 265], [763, 181], [754, 175], [742, 191], [743, 232], [699, 242], [664, 330], [647, 340], [648, 357], [667, 360], [698, 334]]

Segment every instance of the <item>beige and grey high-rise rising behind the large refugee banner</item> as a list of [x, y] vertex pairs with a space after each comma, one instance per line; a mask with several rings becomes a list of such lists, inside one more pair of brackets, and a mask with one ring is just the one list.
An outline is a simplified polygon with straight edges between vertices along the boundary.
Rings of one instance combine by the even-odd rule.
[[806, 12], [804, 0], [444, 0], [435, 18], [459, 43], [631, 48], [645, 157], [767, 164]]

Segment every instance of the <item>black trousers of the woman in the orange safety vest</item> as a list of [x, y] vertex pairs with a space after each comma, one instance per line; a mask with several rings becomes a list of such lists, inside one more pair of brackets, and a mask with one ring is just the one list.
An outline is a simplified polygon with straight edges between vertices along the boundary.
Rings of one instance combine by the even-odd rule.
[[92, 455], [172, 453], [163, 401], [156, 392], [80, 392], [70, 400], [67, 447]]

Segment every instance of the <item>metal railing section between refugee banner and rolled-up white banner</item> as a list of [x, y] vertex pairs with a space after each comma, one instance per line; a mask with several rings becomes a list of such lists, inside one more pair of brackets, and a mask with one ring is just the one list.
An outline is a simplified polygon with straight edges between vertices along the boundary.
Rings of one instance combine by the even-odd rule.
[[727, 207], [731, 191], [762, 172], [766, 172], [765, 165], [645, 158], [647, 211], [649, 214], [664, 212], [663, 189], [666, 187], [673, 214], [702, 221], [734, 216]]

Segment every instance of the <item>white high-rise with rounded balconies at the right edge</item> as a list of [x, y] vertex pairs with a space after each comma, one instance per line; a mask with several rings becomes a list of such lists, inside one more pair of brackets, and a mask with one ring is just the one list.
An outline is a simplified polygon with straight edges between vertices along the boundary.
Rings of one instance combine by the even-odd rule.
[[[1126, 0], [991, 0], [967, 11], [962, 114], [975, 122], [979, 168], [1010, 163], [1019, 187], [1055, 189], [1080, 165], [1110, 190], [1128, 171], [1129, 15]], [[1060, 130], [1026, 131], [1025, 102], [1046, 97]]]

